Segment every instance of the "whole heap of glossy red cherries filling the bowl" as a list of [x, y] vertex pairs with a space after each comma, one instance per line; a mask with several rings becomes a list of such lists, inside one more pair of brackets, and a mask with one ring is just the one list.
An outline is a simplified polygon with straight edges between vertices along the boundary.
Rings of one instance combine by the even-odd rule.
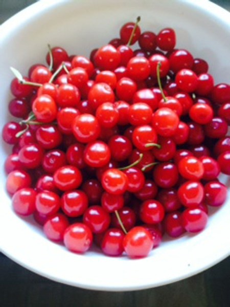
[[6, 189], [73, 252], [145, 257], [165, 233], [203, 230], [227, 197], [230, 85], [176, 49], [173, 29], [139, 21], [90, 58], [49, 47], [28, 76], [12, 68]]

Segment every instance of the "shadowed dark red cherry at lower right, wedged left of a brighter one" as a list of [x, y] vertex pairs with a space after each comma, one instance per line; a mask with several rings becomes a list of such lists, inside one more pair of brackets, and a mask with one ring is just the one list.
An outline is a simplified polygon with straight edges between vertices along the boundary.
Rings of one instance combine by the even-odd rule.
[[173, 238], [177, 238], [183, 234], [185, 228], [182, 226], [182, 214], [179, 211], [168, 213], [165, 216], [164, 229], [165, 232]]

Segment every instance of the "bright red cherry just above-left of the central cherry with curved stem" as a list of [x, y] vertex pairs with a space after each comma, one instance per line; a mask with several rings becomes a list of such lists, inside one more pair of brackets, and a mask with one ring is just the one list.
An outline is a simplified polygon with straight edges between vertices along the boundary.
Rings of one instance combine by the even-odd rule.
[[105, 166], [111, 158], [109, 146], [102, 141], [94, 141], [87, 144], [84, 150], [84, 161], [91, 167]]

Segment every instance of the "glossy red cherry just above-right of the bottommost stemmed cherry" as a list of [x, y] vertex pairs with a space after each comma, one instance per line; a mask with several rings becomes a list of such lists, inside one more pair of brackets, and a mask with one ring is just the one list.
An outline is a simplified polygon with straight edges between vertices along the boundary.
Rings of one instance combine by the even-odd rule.
[[146, 224], [158, 224], [163, 221], [165, 209], [156, 200], [147, 200], [140, 207], [140, 218]]

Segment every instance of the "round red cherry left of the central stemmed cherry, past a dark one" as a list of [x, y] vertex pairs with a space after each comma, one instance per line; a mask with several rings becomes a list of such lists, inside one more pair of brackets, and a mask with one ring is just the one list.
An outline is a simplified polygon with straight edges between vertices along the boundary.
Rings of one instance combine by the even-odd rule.
[[54, 183], [61, 191], [73, 190], [81, 185], [82, 174], [77, 167], [64, 165], [55, 171]]

